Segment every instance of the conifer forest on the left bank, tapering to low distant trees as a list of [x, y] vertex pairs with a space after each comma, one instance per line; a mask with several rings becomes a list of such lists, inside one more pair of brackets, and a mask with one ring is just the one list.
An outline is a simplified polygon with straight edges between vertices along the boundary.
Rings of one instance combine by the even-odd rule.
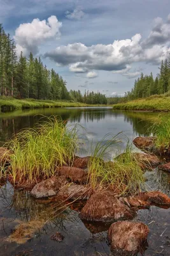
[[48, 70], [40, 57], [22, 52], [17, 58], [15, 41], [0, 24], [0, 95], [15, 99], [73, 100], [87, 104], [106, 104], [102, 93], [80, 90], [68, 92], [66, 81], [55, 70]]

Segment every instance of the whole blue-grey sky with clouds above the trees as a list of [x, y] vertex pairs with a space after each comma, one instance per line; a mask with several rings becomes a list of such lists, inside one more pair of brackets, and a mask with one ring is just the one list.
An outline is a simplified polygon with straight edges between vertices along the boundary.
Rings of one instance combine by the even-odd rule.
[[0, 23], [82, 93], [124, 95], [170, 53], [169, 0], [0, 0]]

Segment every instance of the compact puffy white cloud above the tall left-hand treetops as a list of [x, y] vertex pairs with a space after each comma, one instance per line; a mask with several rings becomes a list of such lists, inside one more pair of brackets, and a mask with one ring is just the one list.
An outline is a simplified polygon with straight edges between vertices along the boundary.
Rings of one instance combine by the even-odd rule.
[[61, 26], [62, 23], [57, 20], [56, 16], [49, 17], [47, 21], [34, 19], [31, 23], [20, 24], [14, 36], [18, 54], [20, 51], [25, 55], [30, 52], [37, 54], [38, 47], [43, 42], [59, 38]]

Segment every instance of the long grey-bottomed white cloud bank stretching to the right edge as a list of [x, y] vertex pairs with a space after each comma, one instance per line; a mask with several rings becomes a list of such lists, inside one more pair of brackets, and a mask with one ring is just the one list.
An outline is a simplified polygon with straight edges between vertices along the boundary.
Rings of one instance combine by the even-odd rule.
[[[131, 70], [132, 63], [143, 61], [155, 65], [168, 56], [169, 28], [170, 16], [166, 23], [157, 18], [150, 35], [145, 40], [142, 40], [140, 34], [136, 34], [131, 39], [115, 40], [113, 44], [108, 45], [86, 46], [81, 43], [61, 45], [53, 51], [46, 52], [45, 57], [59, 65], [69, 66], [72, 72], [107, 70], [132, 78], [139, 75], [139, 70]], [[157, 33], [161, 40], [158, 40]]]

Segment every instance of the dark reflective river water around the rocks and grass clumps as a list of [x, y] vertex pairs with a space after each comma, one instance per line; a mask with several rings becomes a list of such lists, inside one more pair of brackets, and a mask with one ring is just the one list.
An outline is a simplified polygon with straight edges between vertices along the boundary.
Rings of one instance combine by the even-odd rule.
[[[88, 139], [87, 147], [80, 147], [80, 155], [87, 156], [91, 141], [97, 143], [105, 134], [117, 134], [124, 131], [132, 141], [138, 135], [149, 135], [151, 119], [157, 113], [113, 112], [109, 108], [67, 108], [37, 109], [34, 111], [15, 111], [0, 113], [0, 141], [11, 138], [20, 129], [33, 127], [42, 118], [41, 115], [59, 115], [67, 125], [80, 124], [83, 139]], [[124, 148], [126, 140], [121, 147]], [[115, 152], [113, 152], [113, 155]], [[112, 157], [112, 154], [111, 156]], [[146, 172], [147, 189], [159, 189], [170, 195], [170, 175], [154, 170]], [[48, 216], [59, 202], [48, 203], [31, 198], [28, 192], [14, 191], [10, 184], [2, 184], [0, 188], [0, 255], [110, 255], [107, 241], [108, 227], [92, 223], [83, 223], [78, 218], [78, 209], [82, 205], [72, 205], [57, 214], [53, 221]], [[135, 220], [143, 221], [150, 228], [148, 248], [145, 255], [170, 255], [170, 210], [150, 207], [138, 211]], [[42, 221], [43, 219], [43, 221]], [[41, 221], [39, 221], [41, 220]], [[35, 228], [32, 236], [24, 244], [9, 241], [9, 236], [19, 223], [31, 223]], [[64, 240], [59, 243], [50, 237], [61, 232]], [[163, 234], [162, 234], [163, 233]]]

